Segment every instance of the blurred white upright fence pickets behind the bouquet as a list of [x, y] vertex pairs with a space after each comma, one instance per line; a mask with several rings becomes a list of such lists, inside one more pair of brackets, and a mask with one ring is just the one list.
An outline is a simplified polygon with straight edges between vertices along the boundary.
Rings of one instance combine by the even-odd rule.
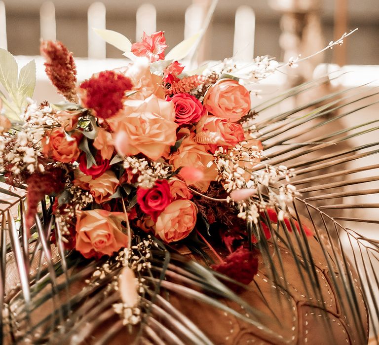
[[[88, 58], [105, 59], [106, 42], [92, 30], [106, 29], [106, 6], [103, 2], [93, 2], [87, 11], [88, 27]], [[202, 29], [206, 7], [199, 3], [190, 5], [185, 13], [184, 38], [194, 35]], [[0, 47], [7, 48], [6, 8], [0, 1]], [[40, 38], [55, 40], [56, 16], [52, 1], [43, 2], [40, 11]], [[142, 33], [152, 34], [156, 31], [156, 9], [152, 4], [144, 3], [136, 11], [136, 41]], [[251, 61], [254, 57], [255, 14], [251, 7], [243, 5], [235, 12], [233, 55], [239, 61]], [[129, 37], [130, 38], [130, 37]], [[206, 57], [200, 57], [206, 58]], [[209, 59], [209, 57], [208, 57]]]

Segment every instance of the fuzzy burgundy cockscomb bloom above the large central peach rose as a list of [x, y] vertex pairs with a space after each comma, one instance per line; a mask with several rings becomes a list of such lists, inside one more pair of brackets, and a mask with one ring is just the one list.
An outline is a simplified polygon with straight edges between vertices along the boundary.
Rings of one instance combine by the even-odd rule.
[[107, 119], [122, 109], [125, 91], [132, 87], [131, 80], [125, 75], [106, 70], [82, 82], [79, 92], [85, 107], [91, 108], [95, 116]]

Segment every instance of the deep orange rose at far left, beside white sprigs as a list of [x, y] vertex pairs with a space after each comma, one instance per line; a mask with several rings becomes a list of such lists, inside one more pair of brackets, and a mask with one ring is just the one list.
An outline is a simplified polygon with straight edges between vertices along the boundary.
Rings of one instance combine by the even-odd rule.
[[58, 162], [72, 163], [80, 154], [76, 138], [68, 138], [63, 128], [57, 128], [42, 139], [42, 152]]

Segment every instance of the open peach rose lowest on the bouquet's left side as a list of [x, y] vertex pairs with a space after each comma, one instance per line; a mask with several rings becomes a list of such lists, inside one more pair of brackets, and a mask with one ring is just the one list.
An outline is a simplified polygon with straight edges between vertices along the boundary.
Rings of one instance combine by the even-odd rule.
[[128, 244], [128, 237], [121, 231], [122, 212], [92, 209], [77, 212], [76, 250], [85, 258], [112, 255]]

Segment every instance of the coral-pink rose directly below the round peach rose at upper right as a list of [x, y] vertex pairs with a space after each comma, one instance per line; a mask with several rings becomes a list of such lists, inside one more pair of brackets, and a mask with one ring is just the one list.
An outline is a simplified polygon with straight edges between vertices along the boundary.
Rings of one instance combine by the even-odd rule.
[[208, 116], [201, 131], [217, 133], [217, 143], [208, 145], [211, 152], [215, 152], [219, 146], [235, 146], [245, 139], [245, 132], [239, 123], [229, 122], [217, 116]]

